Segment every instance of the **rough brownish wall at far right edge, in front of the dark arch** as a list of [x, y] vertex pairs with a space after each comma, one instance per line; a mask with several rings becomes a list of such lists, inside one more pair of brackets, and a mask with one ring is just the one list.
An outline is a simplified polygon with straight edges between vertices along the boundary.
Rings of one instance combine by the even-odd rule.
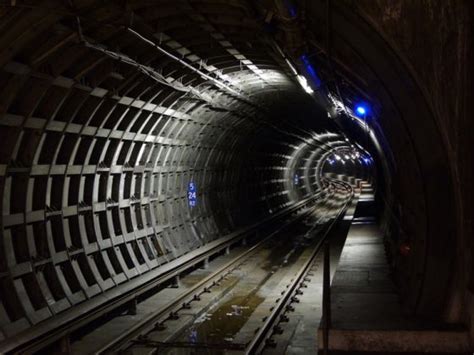
[[[424, 294], [420, 295], [418, 303], [428, 314], [444, 308], [442, 312], [446, 319], [472, 324], [474, 249], [471, 240], [474, 229], [470, 216], [474, 196], [471, 159], [474, 146], [469, 103], [474, 81], [468, 63], [472, 61], [473, 53], [473, 4], [470, 1], [446, 1], [442, 4], [436, 1], [361, 1], [359, 6], [364, 19], [394, 49], [413, 78], [411, 83], [403, 80], [405, 91], [413, 95], [413, 88], [420, 90], [424, 105], [429, 108], [427, 114], [413, 110], [416, 115], [412, 116], [406, 112], [407, 108], [413, 109], [414, 106], [399, 105], [407, 125], [413, 126], [410, 130], [414, 145], [426, 148], [415, 148], [421, 160], [422, 187], [428, 185], [426, 180], [432, 180], [430, 185], [438, 186], [424, 187], [426, 194], [430, 195], [426, 198], [426, 209], [433, 216], [427, 223], [429, 232], [426, 238], [427, 244], [431, 244], [426, 248], [431, 260], [417, 276], [422, 280], [422, 273], [427, 275]], [[424, 121], [430, 116], [435, 128], [428, 129]], [[385, 129], [386, 133], [389, 131]], [[428, 135], [429, 131], [437, 131], [437, 137], [432, 133]], [[403, 147], [395, 147], [394, 151], [403, 152]], [[438, 151], [440, 147], [442, 153]], [[403, 182], [401, 176], [409, 169], [408, 164], [401, 164], [400, 173], [393, 176], [395, 195], [402, 195], [403, 200], [417, 196], [414, 186], [410, 186], [412, 179]], [[447, 179], [451, 182], [446, 183]], [[450, 199], [452, 202], [448, 202]], [[404, 204], [401, 199], [398, 203]], [[414, 207], [405, 211], [397, 208], [403, 211], [402, 223], [407, 227], [416, 222], [415, 213], [411, 212]], [[436, 208], [440, 210], [435, 212]], [[437, 231], [442, 229], [435, 226], [433, 219], [444, 227], [455, 228], [438, 234]], [[405, 232], [416, 235], [412, 230], [412, 227], [405, 228]], [[416, 248], [423, 247], [418, 244]], [[402, 278], [407, 279], [415, 263], [400, 264]], [[440, 285], [441, 278], [448, 280], [445, 287]]]

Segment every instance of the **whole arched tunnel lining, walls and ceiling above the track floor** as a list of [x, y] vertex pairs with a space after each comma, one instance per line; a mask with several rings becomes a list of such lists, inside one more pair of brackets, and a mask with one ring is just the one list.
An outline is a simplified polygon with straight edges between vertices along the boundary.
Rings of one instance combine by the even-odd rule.
[[68, 353], [67, 328], [98, 327], [118, 297], [361, 183], [401, 312], [471, 353], [472, 15], [1, 1], [0, 353]]

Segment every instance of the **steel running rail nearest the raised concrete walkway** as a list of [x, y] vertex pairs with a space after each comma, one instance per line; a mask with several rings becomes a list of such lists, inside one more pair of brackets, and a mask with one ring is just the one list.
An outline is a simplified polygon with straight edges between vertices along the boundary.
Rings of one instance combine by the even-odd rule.
[[[337, 180], [331, 181], [331, 183], [343, 185], [345, 189], [347, 188], [347, 186], [350, 187], [349, 184], [346, 184]], [[329, 226], [329, 228], [326, 230], [323, 237], [321, 238], [321, 240], [319, 240], [318, 243], [316, 244], [313, 252], [311, 253], [311, 256], [303, 264], [303, 266], [298, 270], [297, 276], [293, 279], [291, 284], [284, 291], [284, 294], [280, 297], [277, 304], [272, 308], [270, 315], [266, 317], [264, 324], [258, 329], [257, 333], [255, 334], [255, 337], [252, 339], [252, 341], [248, 343], [245, 349], [246, 355], [260, 354], [263, 351], [263, 349], [267, 345], [267, 341], [273, 335], [274, 326], [278, 323], [278, 320], [280, 319], [279, 316], [284, 312], [284, 310], [286, 309], [286, 306], [291, 302], [292, 295], [295, 293], [299, 285], [303, 282], [304, 278], [309, 273], [312, 265], [314, 264], [316, 260], [316, 257], [318, 256], [319, 252], [322, 249], [322, 246], [324, 245], [324, 242], [327, 239], [329, 232], [332, 230], [333, 226], [340, 219], [343, 213], [345, 213], [349, 203], [353, 199], [353, 196], [354, 196], [354, 192], [352, 191], [352, 188], [351, 188], [350, 197], [347, 199], [346, 203], [339, 211], [337, 217], [334, 218], [331, 225]]]

